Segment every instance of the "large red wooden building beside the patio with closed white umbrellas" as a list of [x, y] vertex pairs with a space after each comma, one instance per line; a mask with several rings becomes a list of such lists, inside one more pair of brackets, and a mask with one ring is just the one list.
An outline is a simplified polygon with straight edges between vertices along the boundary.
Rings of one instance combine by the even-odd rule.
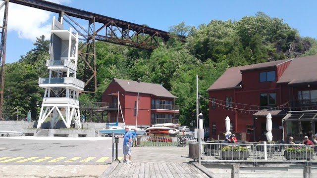
[[[273, 141], [303, 140], [317, 132], [317, 55], [232, 67], [208, 89], [210, 136], [247, 133], [266, 141], [266, 115], [272, 115]], [[284, 128], [282, 127], [284, 126]]]

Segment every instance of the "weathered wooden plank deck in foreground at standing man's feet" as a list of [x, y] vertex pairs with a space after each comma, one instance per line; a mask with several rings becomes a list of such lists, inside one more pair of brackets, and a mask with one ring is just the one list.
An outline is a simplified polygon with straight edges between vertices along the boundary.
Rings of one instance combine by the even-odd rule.
[[190, 163], [119, 163], [108, 178], [209, 178]]

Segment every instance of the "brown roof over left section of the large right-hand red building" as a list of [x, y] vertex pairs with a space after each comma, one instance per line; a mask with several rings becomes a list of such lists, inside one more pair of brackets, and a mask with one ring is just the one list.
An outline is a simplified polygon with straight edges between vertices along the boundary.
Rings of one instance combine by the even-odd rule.
[[265, 62], [259, 64], [252, 64], [239, 67], [231, 67], [227, 69], [219, 78], [216, 80], [208, 90], [218, 89], [231, 89], [238, 87], [242, 81], [241, 71], [256, 70], [268, 67], [274, 67], [292, 59], [284, 59], [272, 62]]

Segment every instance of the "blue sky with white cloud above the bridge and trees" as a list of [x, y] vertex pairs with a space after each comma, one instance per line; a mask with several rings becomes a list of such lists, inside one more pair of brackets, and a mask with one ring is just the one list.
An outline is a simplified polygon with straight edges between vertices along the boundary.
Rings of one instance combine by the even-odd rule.
[[[146, 24], [168, 31], [168, 28], [185, 22], [196, 28], [211, 20], [240, 20], [254, 16], [258, 11], [272, 18], [283, 19], [302, 37], [317, 39], [317, 0], [48, 0], [108, 17]], [[2, 3], [3, 0], [0, 0]], [[0, 23], [4, 7], [0, 9]], [[50, 39], [53, 16], [58, 14], [23, 5], [9, 3], [5, 63], [17, 62], [21, 55], [35, 46], [37, 37]], [[2, 19], [2, 20], [1, 20]], [[75, 19], [88, 29], [88, 21]]]

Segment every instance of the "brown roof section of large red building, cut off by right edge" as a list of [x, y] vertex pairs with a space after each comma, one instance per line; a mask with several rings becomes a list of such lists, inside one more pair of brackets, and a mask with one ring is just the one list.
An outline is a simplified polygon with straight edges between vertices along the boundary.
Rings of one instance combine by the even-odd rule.
[[294, 58], [277, 84], [317, 82], [317, 55]]

